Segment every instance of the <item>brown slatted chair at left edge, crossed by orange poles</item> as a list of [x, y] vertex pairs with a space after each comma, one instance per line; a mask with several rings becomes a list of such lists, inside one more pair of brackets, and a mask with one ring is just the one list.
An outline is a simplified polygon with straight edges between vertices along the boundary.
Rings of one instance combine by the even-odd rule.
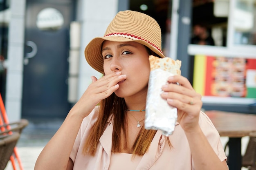
[[28, 125], [26, 119], [0, 126], [0, 170], [4, 170], [13, 154], [20, 134]]

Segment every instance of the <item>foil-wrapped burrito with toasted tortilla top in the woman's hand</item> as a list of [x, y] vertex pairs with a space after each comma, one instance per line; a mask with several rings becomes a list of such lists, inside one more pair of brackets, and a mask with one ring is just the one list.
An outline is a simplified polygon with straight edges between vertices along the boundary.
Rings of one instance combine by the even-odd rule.
[[180, 75], [180, 60], [169, 57], [159, 58], [149, 56], [150, 75], [148, 82], [148, 94], [146, 98], [146, 129], [162, 130], [163, 135], [171, 135], [177, 121], [177, 108], [167, 104], [162, 99], [162, 86], [167, 83], [168, 77]]

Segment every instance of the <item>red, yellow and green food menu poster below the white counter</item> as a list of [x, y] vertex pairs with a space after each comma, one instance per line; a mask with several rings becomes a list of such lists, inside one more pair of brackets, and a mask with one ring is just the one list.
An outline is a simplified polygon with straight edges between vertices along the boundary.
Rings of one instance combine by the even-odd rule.
[[256, 97], [256, 59], [195, 55], [193, 87], [204, 96]]

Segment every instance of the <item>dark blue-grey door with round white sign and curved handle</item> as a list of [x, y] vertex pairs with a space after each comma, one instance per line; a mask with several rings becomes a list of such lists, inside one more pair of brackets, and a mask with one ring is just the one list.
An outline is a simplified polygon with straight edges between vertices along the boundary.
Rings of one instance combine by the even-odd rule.
[[62, 118], [74, 0], [27, 0], [22, 117]]

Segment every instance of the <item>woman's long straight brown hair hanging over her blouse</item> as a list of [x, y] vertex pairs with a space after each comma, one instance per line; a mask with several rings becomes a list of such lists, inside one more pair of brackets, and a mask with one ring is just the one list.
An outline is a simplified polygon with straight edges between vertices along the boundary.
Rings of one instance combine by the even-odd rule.
[[[106, 99], [103, 99], [99, 105], [98, 119], [85, 141], [83, 153], [92, 156], [95, 155], [99, 139], [106, 129], [110, 117], [113, 119], [112, 152], [121, 152], [122, 147], [127, 147], [126, 104], [124, 98], [117, 97], [115, 93], [113, 93]], [[124, 132], [124, 146], [121, 146], [121, 131]], [[155, 133], [156, 130], [146, 130], [142, 127], [133, 144], [133, 154], [144, 155], [148, 150]]]

